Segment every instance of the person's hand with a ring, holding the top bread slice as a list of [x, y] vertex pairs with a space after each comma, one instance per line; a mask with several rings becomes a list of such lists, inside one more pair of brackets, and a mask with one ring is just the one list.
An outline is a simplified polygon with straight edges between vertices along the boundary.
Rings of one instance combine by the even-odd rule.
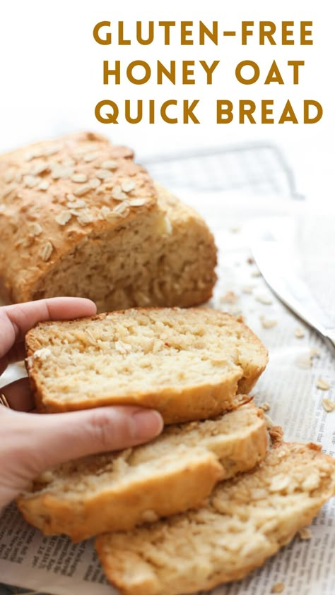
[[[0, 374], [25, 356], [24, 336], [40, 320], [95, 315], [81, 298], [53, 298], [0, 308]], [[35, 413], [28, 378], [0, 389], [11, 409], [0, 405], [0, 510], [35, 476], [69, 459], [146, 442], [163, 421], [141, 407], [99, 407], [86, 411]]]

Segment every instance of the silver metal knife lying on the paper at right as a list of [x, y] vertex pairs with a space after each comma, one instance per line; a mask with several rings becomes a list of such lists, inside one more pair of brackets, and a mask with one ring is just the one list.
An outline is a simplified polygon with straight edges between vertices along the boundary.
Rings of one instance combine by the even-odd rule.
[[298, 272], [297, 251], [293, 245], [294, 227], [291, 217], [267, 217], [253, 221], [250, 227], [252, 256], [274, 294], [317, 330], [335, 355], [334, 323], [320, 308]]

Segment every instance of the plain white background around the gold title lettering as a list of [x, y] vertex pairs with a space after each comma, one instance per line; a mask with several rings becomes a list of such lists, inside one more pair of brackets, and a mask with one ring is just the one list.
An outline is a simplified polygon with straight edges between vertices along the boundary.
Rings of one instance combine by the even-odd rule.
[[[0, 4], [0, 150], [8, 150], [23, 143], [57, 136], [81, 129], [93, 129], [109, 136], [115, 143], [130, 145], [139, 158], [154, 152], [173, 152], [176, 149], [230, 145], [245, 141], [270, 140], [278, 143], [293, 164], [298, 190], [311, 198], [330, 196], [334, 145], [334, 102], [331, 56], [333, 37], [329, 0], [240, 0], [224, 2], [206, 0], [192, 2], [170, 0], [11, 0]], [[241, 20], [254, 20], [255, 36], [246, 47], [239, 37], [221, 38], [216, 47], [211, 43], [199, 47], [194, 26], [194, 46], [180, 47], [176, 28], [173, 45], [165, 47], [162, 32], [149, 46], [119, 47], [116, 43], [102, 46], [93, 40], [93, 26], [100, 20], [111, 20], [116, 31], [117, 20], [126, 22], [126, 30], [134, 40], [136, 20], [199, 20], [211, 25], [218, 20], [219, 30], [239, 29]], [[281, 20], [295, 21], [295, 45], [257, 44], [257, 23], [273, 20], [280, 30]], [[314, 44], [299, 45], [300, 20], [313, 20]], [[202, 69], [195, 67], [196, 85], [158, 87], [155, 77], [146, 85], [131, 85], [124, 78], [122, 85], [102, 84], [102, 61], [120, 59], [125, 66], [143, 59], [152, 66], [160, 59], [221, 60], [213, 80], [204, 85]], [[235, 80], [235, 66], [243, 59], [252, 59], [261, 66], [261, 76], [255, 85], [241, 85]], [[264, 78], [273, 59], [276, 59], [286, 85], [264, 86]], [[300, 85], [292, 84], [288, 59], [303, 59]], [[219, 70], [220, 68], [220, 70]], [[154, 72], [154, 68], [153, 68]], [[180, 71], [179, 71], [180, 72]], [[196, 109], [201, 125], [127, 124], [121, 119], [118, 126], [99, 124], [95, 119], [95, 104], [110, 98], [122, 104], [129, 98], [201, 98]], [[322, 103], [324, 116], [318, 124], [215, 124], [216, 99], [252, 99], [259, 105], [262, 98], [274, 99], [274, 114], [278, 118], [286, 100], [290, 98], [298, 118], [302, 115], [302, 100], [315, 99]]]

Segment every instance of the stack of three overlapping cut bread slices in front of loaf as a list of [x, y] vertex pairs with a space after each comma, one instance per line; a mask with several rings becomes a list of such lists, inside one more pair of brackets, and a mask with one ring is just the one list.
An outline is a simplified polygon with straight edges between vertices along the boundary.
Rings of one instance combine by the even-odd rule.
[[74, 541], [98, 535], [127, 595], [174, 595], [240, 579], [309, 524], [335, 491], [316, 445], [269, 447], [248, 393], [267, 352], [210, 308], [133, 308], [39, 323], [26, 337], [41, 412], [152, 407], [150, 443], [62, 464], [18, 498], [25, 519]]

